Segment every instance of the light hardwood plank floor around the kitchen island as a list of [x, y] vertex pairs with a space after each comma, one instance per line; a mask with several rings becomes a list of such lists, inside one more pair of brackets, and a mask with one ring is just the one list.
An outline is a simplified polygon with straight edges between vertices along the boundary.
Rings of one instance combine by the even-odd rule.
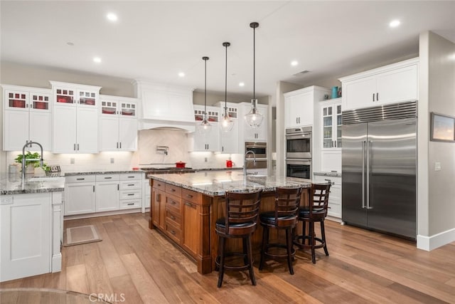
[[[116, 296], [120, 303], [455, 303], [455, 243], [434, 251], [415, 243], [326, 221], [330, 256], [316, 264], [298, 252], [295, 275], [269, 261], [257, 286], [247, 273], [200, 275], [196, 264], [148, 228], [148, 214], [65, 221], [94, 224], [103, 241], [63, 248], [63, 269], [0, 284]], [[0, 299], [1, 302], [1, 299]], [[1, 302], [3, 303], [3, 302]], [[18, 302], [38, 303], [38, 302]]]

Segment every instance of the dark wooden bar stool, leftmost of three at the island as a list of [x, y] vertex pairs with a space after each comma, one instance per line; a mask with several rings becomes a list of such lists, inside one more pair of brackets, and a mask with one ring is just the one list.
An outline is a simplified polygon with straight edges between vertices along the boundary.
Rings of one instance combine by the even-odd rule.
[[[251, 235], [257, 228], [259, 204], [262, 190], [256, 192], [226, 192], [225, 217], [215, 223], [215, 231], [219, 237], [218, 257], [215, 260], [219, 268], [218, 288], [223, 284], [225, 269], [235, 271], [250, 271], [252, 285], [256, 285], [253, 271], [253, 256]], [[242, 238], [242, 252], [225, 252], [226, 239]], [[226, 265], [226, 256], [242, 256], [244, 265]]]

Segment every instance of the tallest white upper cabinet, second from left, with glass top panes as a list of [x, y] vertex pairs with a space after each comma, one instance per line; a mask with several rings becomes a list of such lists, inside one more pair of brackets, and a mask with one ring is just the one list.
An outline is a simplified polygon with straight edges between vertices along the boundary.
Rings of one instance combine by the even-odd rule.
[[50, 83], [54, 100], [53, 153], [97, 153], [100, 87]]

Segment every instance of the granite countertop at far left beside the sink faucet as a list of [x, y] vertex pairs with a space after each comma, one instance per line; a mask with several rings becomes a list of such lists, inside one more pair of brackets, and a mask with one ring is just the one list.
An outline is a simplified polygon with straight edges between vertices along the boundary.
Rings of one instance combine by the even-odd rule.
[[62, 192], [65, 177], [26, 177], [22, 184], [21, 174], [0, 173], [0, 195]]

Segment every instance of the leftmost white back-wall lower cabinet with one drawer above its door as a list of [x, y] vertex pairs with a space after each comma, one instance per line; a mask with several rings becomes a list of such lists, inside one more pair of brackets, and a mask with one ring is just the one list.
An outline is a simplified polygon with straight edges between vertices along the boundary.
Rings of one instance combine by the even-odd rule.
[[95, 212], [95, 175], [65, 177], [65, 215]]

